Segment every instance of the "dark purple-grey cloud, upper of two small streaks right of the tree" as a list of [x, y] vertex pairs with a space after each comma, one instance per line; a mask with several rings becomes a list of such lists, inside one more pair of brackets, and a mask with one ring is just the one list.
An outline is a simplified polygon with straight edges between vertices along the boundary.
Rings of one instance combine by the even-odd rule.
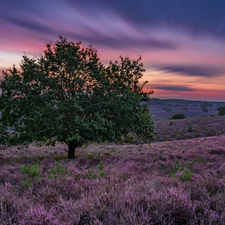
[[225, 71], [217, 67], [209, 67], [202, 65], [153, 65], [157, 70], [166, 73], [176, 73], [179, 75], [199, 76], [199, 77], [217, 77], [222, 75]]

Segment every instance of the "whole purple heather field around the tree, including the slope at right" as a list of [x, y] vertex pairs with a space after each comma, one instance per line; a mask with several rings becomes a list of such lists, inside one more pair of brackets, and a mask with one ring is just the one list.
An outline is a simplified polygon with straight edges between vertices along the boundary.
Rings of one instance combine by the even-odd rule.
[[151, 144], [92, 144], [75, 160], [60, 144], [2, 146], [0, 224], [225, 224], [225, 117], [155, 127]]

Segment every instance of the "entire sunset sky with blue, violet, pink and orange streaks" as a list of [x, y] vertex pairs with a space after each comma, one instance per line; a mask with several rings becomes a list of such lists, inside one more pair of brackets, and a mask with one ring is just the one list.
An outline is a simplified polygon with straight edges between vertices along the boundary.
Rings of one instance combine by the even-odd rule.
[[151, 97], [225, 101], [224, 0], [1, 0], [0, 71], [60, 35], [106, 65], [141, 56]]

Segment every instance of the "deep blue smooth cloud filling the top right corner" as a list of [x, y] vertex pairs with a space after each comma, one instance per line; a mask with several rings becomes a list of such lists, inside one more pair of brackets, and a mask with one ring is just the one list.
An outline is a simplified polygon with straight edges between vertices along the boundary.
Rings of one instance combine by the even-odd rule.
[[185, 30], [190, 36], [210, 35], [225, 39], [224, 0], [64, 0], [85, 15], [117, 14], [143, 32], [160, 26]]

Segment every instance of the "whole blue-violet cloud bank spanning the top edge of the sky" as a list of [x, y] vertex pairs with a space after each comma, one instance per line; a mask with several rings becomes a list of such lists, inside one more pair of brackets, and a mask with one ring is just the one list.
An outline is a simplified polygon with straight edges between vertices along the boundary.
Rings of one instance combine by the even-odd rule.
[[224, 0], [0, 2], [0, 20], [4, 22], [46, 36], [62, 34], [116, 49], [178, 49], [179, 43], [167, 40], [166, 36], [154, 38], [154, 30], [162, 27], [180, 29], [192, 37], [210, 35], [225, 40], [224, 15]]

